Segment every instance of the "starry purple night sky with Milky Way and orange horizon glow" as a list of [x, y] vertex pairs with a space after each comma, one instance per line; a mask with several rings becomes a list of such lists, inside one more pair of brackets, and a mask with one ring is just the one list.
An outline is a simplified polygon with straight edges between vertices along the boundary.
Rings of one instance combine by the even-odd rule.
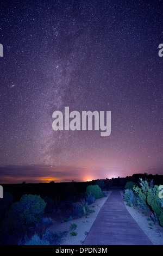
[[[162, 1], [1, 1], [0, 180], [162, 171]], [[111, 135], [52, 114], [111, 111]]]

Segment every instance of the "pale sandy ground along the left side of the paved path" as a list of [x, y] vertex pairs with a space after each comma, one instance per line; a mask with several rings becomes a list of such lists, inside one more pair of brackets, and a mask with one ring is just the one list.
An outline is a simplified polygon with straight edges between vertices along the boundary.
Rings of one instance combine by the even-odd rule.
[[[106, 191], [105, 191], [106, 192]], [[93, 222], [96, 220], [99, 210], [102, 208], [106, 199], [110, 196], [111, 191], [107, 191], [107, 197], [103, 197], [101, 199], [96, 199], [95, 203], [89, 205], [90, 210], [94, 210], [89, 214], [89, 216], [84, 216], [82, 218], [78, 218], [76, 220], [68, 221], [65, 223], [59, 223], [52, 225], [48, 230], [54, 232], [62, 232], [67, 231], [67, 235], [64, 237], [60, 245], [82, 245], [87, 234], [89, 233]], [[71, 224], [75, 223], [77, 228], [75, 230], [71, 230]], [[71, 231], [75, 231], [77, 233], [76, 236], [72, 236]]]

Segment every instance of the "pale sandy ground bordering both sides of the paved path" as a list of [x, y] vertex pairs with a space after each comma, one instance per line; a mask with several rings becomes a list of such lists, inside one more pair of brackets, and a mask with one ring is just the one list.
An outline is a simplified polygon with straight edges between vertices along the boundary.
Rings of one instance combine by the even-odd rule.
[[[48, 230], [54, 232], [67, 231], [67, 235], [64, 237], [60, 245], [82, 245], [87, 234], [89, 233], [93, 222], [96, 220], [99, 210], [102, 208], [106, 199], [110, 196], [111, 191], [108, 192], [108, 196], [102, 199], [97, 199], [95, 203], [89, 205], [90, 210], [94, 210], [87, 217], [78, 218], [76, 220], [68, 221], [65, 223], [59, 223], [52, 225]], [[121, 191], [123, 197], [123, 191]], [[163, 245], [163, 228], [159, 224], [154, 224], [150, 218], [151, 212], [144, 212], [138, 208], [130, 207], [124, 202], [126, 209], [130, 215], [134, 218], [140, 228], [145, 232], [154, 245]], [[93, 207], [92, 207], [93, 206]], [[71, 230], [71, 224], [76, 223], [77, 228]], [[71, 231], [77, 233], [76, 236], [72, 236]]]

